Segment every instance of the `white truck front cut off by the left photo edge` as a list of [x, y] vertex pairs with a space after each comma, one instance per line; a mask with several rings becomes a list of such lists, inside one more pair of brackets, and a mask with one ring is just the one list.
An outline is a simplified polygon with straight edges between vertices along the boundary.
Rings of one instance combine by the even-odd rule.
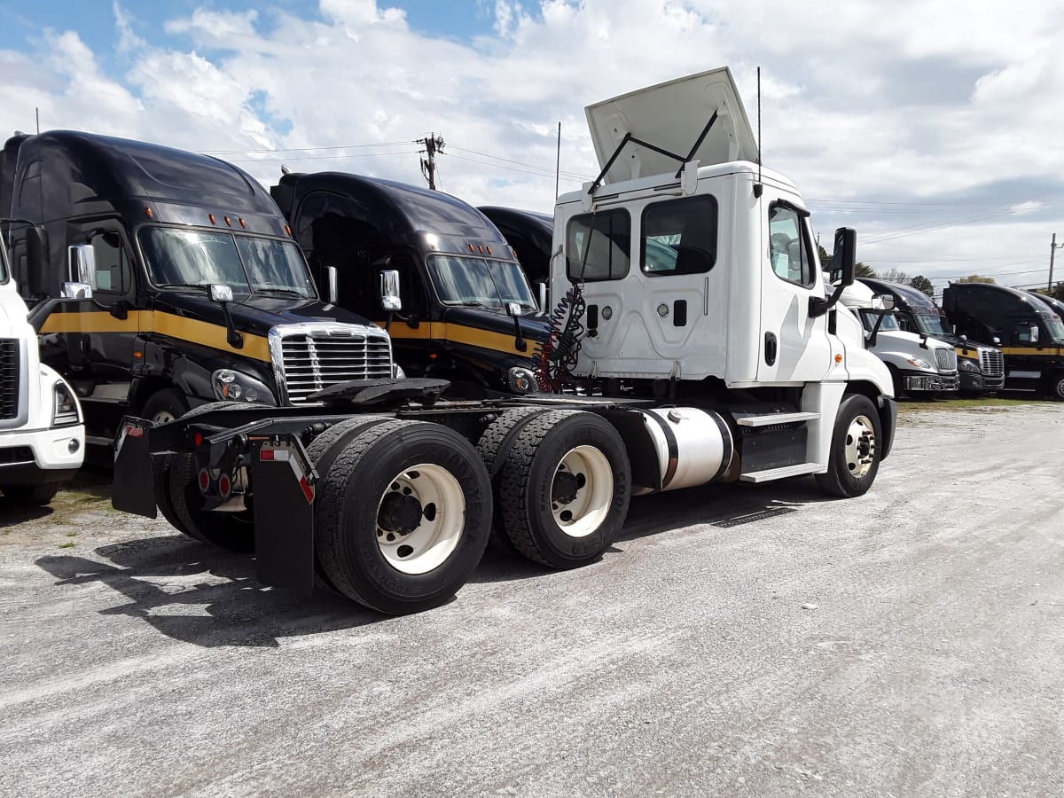
[[78, 397], [40, 362], [37, 331], [0, 244], [0, 492], [9, 502], [47, 504], [81, 467], [84, 449]]

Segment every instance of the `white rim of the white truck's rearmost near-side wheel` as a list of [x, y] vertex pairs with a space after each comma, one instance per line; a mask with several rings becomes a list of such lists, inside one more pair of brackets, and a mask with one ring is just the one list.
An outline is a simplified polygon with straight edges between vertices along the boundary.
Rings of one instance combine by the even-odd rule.
[[403, 573], [439, 567], [458, 548], [464, 528], [462, 486], [442, 466], [421, 463], [396, 475], [377, 504], [377, 545]]

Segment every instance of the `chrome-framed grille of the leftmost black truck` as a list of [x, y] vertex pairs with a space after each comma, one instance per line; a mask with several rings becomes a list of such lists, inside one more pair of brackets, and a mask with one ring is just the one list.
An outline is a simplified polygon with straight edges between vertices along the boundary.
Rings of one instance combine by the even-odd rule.
[[292, 404], [338, 382], [392, 377], [392, 344], [379, 328], [299, 325], [273, 328], [270, 338]]

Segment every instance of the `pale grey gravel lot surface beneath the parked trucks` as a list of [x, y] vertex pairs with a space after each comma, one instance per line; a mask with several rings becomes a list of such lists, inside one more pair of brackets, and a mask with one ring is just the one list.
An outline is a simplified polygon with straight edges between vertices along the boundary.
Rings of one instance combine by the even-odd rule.
[[98, 485], [0, 505], [0, 794], [1061, 795], [1062, 451], [1064, 405], [908, 414], [865, 497], [638, 498], [401, 618]]

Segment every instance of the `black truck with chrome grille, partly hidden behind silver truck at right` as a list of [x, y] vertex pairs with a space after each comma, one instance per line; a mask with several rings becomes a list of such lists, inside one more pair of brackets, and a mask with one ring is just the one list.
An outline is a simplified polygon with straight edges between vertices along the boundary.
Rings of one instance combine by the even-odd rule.
[[957, 350], [958, 386], [962, 396], [1000, 390], [1004, 386], [1004, 356], [1000, 348], [969, 340], [953, 332], [943, 310], [924, 292], [911, 285], [859, 278], [876, 294], [894, 298], [894, 318], [905, 332], [933, 336]]

